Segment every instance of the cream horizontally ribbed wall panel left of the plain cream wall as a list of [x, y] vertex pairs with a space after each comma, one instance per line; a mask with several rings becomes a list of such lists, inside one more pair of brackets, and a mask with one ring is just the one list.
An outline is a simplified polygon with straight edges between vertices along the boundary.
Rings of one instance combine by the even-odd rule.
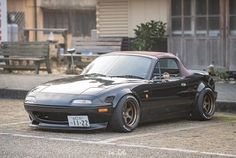
[[98, 0], [96, 14], [99, 37], [127, 37], [128, 0]]

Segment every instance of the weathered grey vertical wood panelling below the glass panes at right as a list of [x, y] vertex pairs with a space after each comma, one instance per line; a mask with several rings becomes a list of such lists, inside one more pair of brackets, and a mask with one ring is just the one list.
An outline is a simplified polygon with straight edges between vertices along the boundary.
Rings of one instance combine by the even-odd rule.
[[169, 52], [177, 55], [190, 69], [203, 70], [214, 64], [216, 68], [236, 70], [236, 38], [171, 37]]

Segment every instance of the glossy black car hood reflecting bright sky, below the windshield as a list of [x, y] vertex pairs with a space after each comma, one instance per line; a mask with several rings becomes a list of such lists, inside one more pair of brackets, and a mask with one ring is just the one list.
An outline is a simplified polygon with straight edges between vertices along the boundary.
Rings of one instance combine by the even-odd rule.
[[[47, 82], [36, 87], [37, 92], [57, 94], [86, 94], [93, 95], [111, 87], [120, 87], [144, 82], [140, 79], [127, 79], [115, 77], [85, 77], [76, 76]], [[33, 90], [34, 91], [34, 90]]]

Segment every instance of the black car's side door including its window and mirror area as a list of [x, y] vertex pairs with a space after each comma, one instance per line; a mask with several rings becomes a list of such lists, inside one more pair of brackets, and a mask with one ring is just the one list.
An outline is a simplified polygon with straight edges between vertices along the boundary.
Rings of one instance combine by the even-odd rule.
[[191, 110], [197, 85], [191, 78], [181, 76], [177, 62], [167, 58], [156, 64], [143, 109], [147, 116], [144, 119], [165, 119]]

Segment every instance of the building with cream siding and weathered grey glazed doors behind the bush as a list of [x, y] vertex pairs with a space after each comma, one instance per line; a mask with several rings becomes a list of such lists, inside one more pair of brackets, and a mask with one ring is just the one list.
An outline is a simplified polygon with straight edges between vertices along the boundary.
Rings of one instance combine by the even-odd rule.
[[97, 0], [99, 37], [134, 37], [141, 22], [168, 26], [168, 50], [192, 69], [236, 70], [235, 0]]

